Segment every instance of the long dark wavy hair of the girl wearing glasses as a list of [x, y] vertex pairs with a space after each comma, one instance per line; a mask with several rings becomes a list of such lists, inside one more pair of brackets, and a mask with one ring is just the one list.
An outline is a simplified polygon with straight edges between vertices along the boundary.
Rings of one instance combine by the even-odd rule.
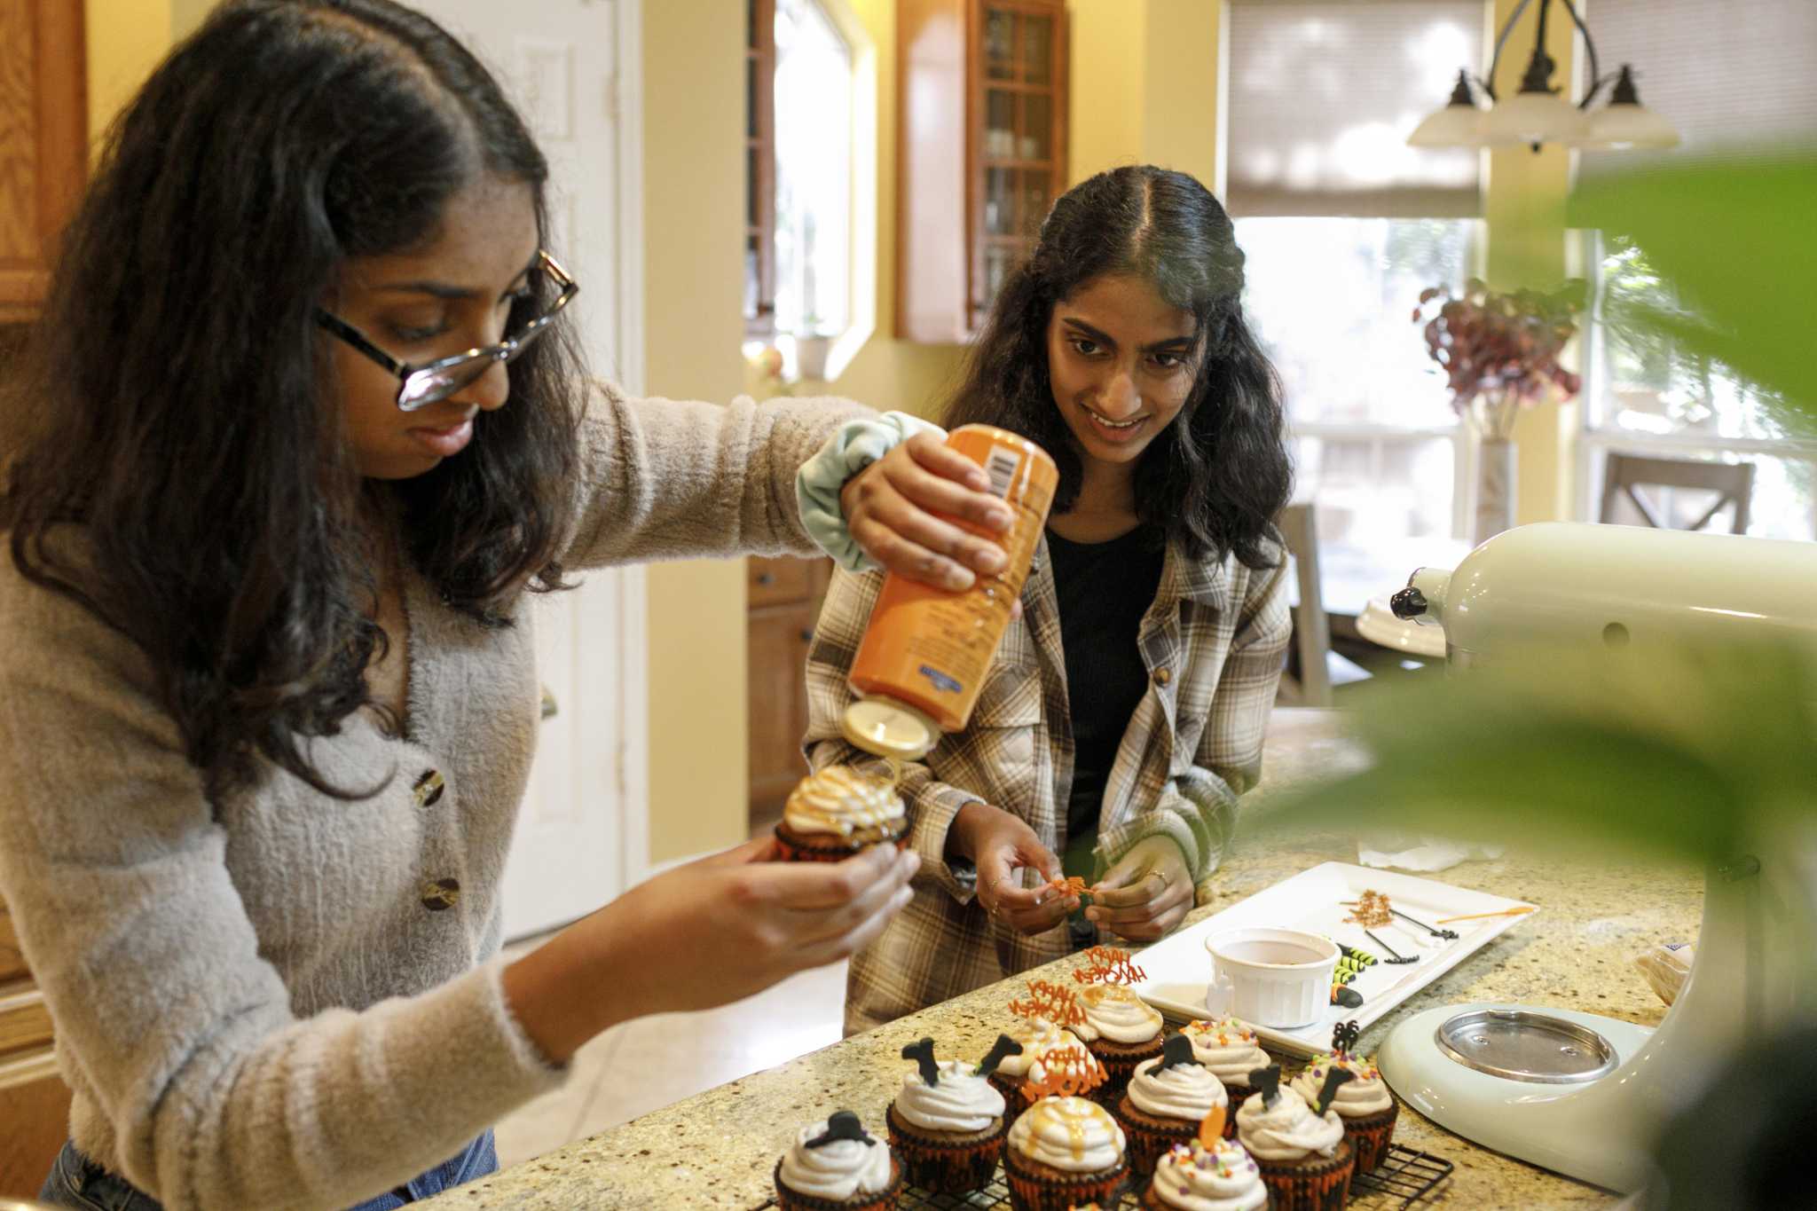
[[[314, 325], [343, 261], [434, 240], [482, 174], [527, 183], [547, 231], [549, 169], [503, 91], [387, 0], [231, 0], [109, 133], [11, 394], [24, 447], [0, 525], [24, 576], [145, 650], [211, 793], [256, 753], [371, 793], [329, 786], [302, 743], [369, 704], [369, 494], [483, 625], [561, 586], [581, 407], [563, 325], [511, 363], [511, 405], [474, 418], [463, 456], [392, 485], [352, 465]], [[47, 541], [65, 527], [82, 557]]]

